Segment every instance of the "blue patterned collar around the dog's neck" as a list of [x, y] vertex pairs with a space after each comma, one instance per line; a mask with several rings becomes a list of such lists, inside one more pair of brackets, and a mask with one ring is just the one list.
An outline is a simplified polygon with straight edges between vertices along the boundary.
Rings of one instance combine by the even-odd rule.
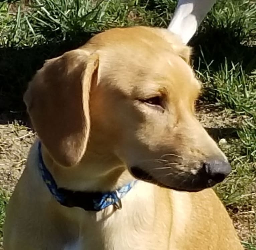
[[80, 192], [72, 191], [63, 188], [58, 188], [51, 173], [46, 168], [42, 153], [41, 142], [38, 143], [38, 157], [39, 157], [39, 170], [42, 178], [48, 187], [53, 197], [63, 206], [67, 207], [81, 207], [88, 211], [100, 211], [110, 205], [114, 205], [116, 208], [121, 209], [121, 198], [128, 193], [134, 186], [136, 181], [111, 192]]

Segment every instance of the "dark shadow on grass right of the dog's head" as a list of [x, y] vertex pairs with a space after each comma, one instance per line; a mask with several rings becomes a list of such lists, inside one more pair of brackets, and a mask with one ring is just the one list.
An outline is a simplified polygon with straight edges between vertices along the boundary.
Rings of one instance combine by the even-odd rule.
[[[199, 57], [204, 54], [206, 63], [211, 64], [212, 71], [220, 70], [220, 65], [227, 62], [233, 62], [234, 64], [240, 63], [246, 73], [251, 73], [256, 69], [256, 44], [255, 36], [250, 39], [245, 38], [241, 40], [240, 34], [234, 29], [217, 29], [213, 27], [205, 27], [205, 31], [198, 33], [191, 41], [189, 45], [194, 48], [194, 66], [195, 69], [199, 66]], [[254, 44], [253, 44], [254, 42]], [[250, 45], [249, 45], [250, 44]], [[202, 67], [203, 66], [203, 67]], [[200, 70], [204, 69], [201, 65]]]

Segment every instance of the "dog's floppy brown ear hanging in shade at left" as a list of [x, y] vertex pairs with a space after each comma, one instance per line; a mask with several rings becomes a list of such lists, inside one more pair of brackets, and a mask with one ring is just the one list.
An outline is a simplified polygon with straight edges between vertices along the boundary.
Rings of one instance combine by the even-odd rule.
[[42, 143], [62, 166], [83, 157], [89, 132], [89, 94], [97, 84], [99, 58], [73, 50], [47, 60], [24, 94], [24, 102]]

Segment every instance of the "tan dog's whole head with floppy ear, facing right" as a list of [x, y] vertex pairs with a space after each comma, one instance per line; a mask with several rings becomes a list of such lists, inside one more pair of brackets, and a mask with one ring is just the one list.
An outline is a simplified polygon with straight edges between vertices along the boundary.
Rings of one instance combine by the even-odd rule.
[[211, 187], [231, 169], [195, 117], [200, 84], [189, 56], [164, 29], [100, 33], [37, 72], [24, 96], [32, 124], [62, 166], [104, 159], [91, 171], [128, 169], [177, 190]]

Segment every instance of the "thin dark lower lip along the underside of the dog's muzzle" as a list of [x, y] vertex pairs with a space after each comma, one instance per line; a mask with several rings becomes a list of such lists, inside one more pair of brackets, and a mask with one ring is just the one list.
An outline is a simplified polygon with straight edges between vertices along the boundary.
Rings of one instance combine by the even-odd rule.
[[158, 185], [160, 187], [168, 188], [168, 189], [172, 189], [172, 190], [176, 190], [176, 191], [199, 192], [199, 191], [201, 191], [203, 189], [211, 188], [211, 187], [213, 187], [214, 185], [217, 184], [215, 181], [209, 179], [207, 181], [207, 183], [206, 182], [202, 182], [202, 183], [200, 183], [200, 185], [195, 185], [195, 186], [192, 186], [192, 185], [182, 185], [182, 186], [181, 185], [172, 185], [171, 183], [167, 184], [167, 183], [163, 183], [160, 180], [157, 180], [152, 175], [150, 175], [146, 171], [142, 170], [138, 166], [132, 166], [129, 169], [130, 169], [131, 174], [136, 179], [139, 179], [139, 180], [142, 180], [142, 181], [146, 181], [146, 182]]

